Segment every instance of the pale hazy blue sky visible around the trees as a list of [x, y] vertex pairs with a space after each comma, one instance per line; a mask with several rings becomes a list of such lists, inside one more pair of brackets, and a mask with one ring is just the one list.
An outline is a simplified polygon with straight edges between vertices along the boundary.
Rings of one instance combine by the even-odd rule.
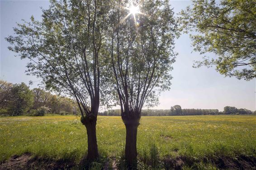
[[[190, 1], [170, 1], [175, 13], [191, 4]], [[7, 49], [8, 43], [4, 37], [13, 34], [13, 27], [21, 19], [29, 20], [33, 15], [36, 19], [41, 17], [41, 9], [46, 9], [49, 2], [39, 0], [0, 0], [0, 79], [11, 83], [38, 81], [34, 76], [25, 73], [28, 60], [14, 57], [14, 53]], [[256, 109], [256, 82], [237, 80], [224, 77], [215, 71], [215, 68], [192, 68], [194, 60], [202, 56], [191, 53], [189, 35], [184, 34], [176, 40], [175, 51], [178, 52], [176, 62], [171, 72], [173, 76], [171, 90], [161, 94], [160, 104], [156, 109], [169, 109], [175, 104], [182, 108], [207, 108], [223, 110], [225, 106]], [[209, 54], [215, 57], [214, 54]], [[37, 84], [31, 86], [36, 87]]]

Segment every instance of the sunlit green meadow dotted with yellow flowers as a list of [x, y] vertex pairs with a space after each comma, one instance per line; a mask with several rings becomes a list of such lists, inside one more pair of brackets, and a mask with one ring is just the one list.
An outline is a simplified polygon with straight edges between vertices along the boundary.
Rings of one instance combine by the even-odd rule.
[[[103, 157], [122, 156], [125, 126], [121, 117], [99, 116], [97, 140]], [[256, 116], [142, 116], [137, 135], [139, 157], [145, 159], [154, 145], [160, 158], [256, 157]], [[80, 117], [0, 118], [0, 162], [24, 152], [79, 162], [86, 147]]]

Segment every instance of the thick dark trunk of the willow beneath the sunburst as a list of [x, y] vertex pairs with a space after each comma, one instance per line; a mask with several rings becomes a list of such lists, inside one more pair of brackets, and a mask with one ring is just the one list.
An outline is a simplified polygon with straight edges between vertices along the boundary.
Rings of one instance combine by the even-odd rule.
[[125, 160], [128, 164], [128, 169], [136, 167], [137, 163], [137, 128], [139, 119], [123, 119], [126, 128], [126, 142], [125, 142]]

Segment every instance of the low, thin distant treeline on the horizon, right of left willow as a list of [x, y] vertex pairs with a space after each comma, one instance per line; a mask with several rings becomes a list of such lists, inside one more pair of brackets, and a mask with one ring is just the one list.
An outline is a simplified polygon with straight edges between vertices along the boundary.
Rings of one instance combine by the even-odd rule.
[[[256, 114], [248, 109], [237, 109], [236, 107], [226, 106], [223, 112], [218, 109], [182, 109], [180, 105], [172, 106], [171, 109], [147, 109], [142, 110], [142, 116], [189, 116], [189, 115], [220, 115], [220, 114]], [[112, 109], [99, 113], [102, 116], [121, 116], [120, 109]]]

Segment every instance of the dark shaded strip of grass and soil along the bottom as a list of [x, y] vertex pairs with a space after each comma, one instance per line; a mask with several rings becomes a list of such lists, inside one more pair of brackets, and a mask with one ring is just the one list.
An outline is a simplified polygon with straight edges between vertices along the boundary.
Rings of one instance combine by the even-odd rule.
[[47, 157], [33, 156], [26, 152], [0, 163], [0, 170], [251, 170], [256, 167], [255, 155], [212, 156], [202, 159], [190, 156], [159, 157], [156, 145], [151, 146], [149, 153], [145, 152], [139, 155], [133, 167], [127, 166], [123, 155], [122, 153], [119, 157], [100, 156], [94, 162], [82, 159], [79, 163], [74, 158], [72, 159], [71, 155], [65, 159], [54, 160]]

